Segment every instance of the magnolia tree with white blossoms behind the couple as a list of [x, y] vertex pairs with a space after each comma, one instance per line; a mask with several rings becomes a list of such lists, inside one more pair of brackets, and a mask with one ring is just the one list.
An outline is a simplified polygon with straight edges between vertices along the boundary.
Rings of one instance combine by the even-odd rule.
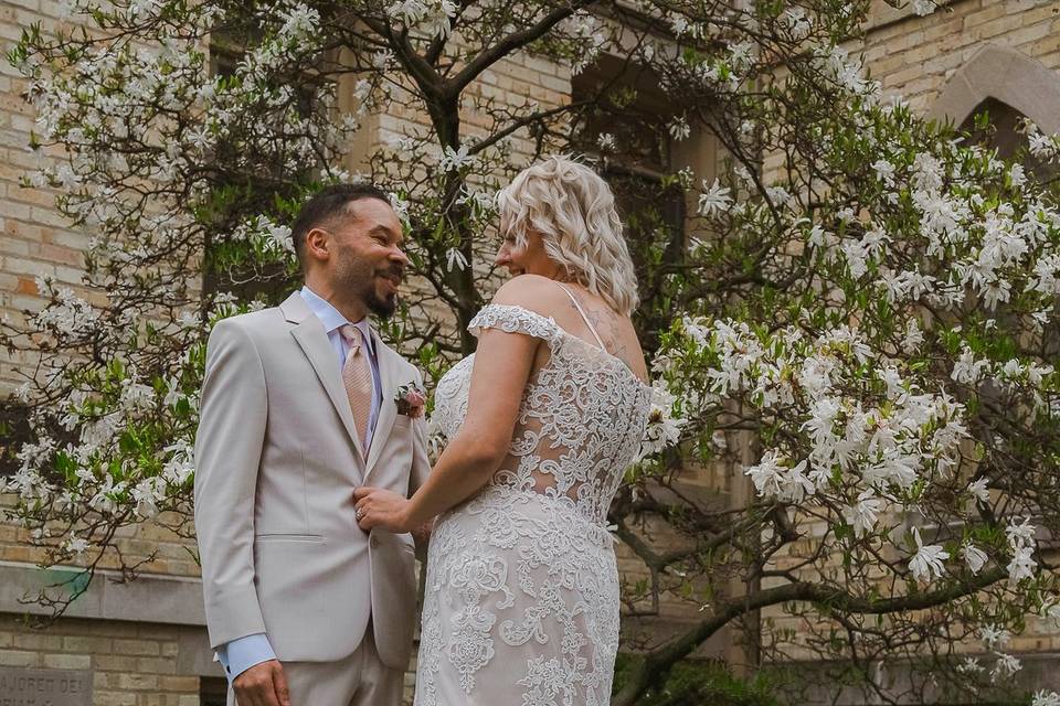
[[[1042, 178], [1060, 140], [1027, 126], [1003, 161], [883, 95], [842, 49], [868, 4], [73, 0], [78, 29], [31, 28], [9, 55], [36, 111], [26, 188], [55, 189], [91, 236], [84, 286], [42, 278], [47, 304], [6, 324], [35, 361], [6, 405], [13, 520], [89, 576], [135, 573], [124, 527], [190, 533], [206, 335], [296, 286], [287, 224], [321, 185], [392, 192], [415, 277], [385, 333], [436, 379], [496, 286], [498, 185], [544, 152], [592, 146], [606, 169], [625, 140], [680, 150], [696, 130], [719, 173], [657, 184], [695, 213], [675, 224], [642, 197], [624, 214], [657, 398], [612, 513], [651, 576], [628, 606], [668, 592], [691, 619], [629, 632], [615, 702], [725, 627], [749, 662], [815, 660], [888, 700], [1016, 683], [1011, 637], [1060, 619], [1060, 213]], [[526, 56], [616, 68], [554, 105], [484, 88]], [[669, 98], [651, 116], [645, 77]], [[418, 118], [386, 122], [350, 174], [379, 115]], [[635, 136], [594, 127], [630, 116]], [[748, 502], [682, 480], [734, 459]]]

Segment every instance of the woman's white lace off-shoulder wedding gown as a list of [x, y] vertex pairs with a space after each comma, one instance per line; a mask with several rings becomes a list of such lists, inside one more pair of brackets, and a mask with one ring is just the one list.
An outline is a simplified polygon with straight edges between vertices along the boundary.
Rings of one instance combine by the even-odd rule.
[[[416, 706], [611, 700], [618, 571], [607, 509], [639, 448], [651, 388], [585, 321], [600, 346], [520, 307], [489, 304], [468, 327], [540, 338], [551, 355], [527, 383], [500, 470], [435, 524]], [[449, 439], [467, 413], [473, 364], [464, 359], [437, 386], [435, 418]]]

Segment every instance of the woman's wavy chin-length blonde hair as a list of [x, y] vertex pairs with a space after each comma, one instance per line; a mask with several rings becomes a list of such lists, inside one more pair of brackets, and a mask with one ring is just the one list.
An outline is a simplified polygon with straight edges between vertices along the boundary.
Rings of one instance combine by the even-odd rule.
[[497, 208], [502, 237], [524, 246], [531, 232], [539, 234], [545, 253], [574, 281], [625, 315], [637, 308], [637, 276], [615, 197], [592, 169], [548, 157], [498, 192]]

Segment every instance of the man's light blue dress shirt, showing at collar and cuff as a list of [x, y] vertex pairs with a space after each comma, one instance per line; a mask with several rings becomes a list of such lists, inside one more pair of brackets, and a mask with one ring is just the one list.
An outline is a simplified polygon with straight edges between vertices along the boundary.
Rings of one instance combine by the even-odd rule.
[[[298, 293], [301, 295], [301, 298], [314, 315], [324, 324], [324, 330], [328, 334], [328, 342], [331, 343], [331, 347], [335, 350], [336, 357], [338, 359], [339, 373], [341, 374], [342, 366], [346, 365], [346, 356], [350, 352], [350, 346], [346, 342], [346, 339], [342, 338], [342, 334], [339, 333], [339, 329], [351, 322], [347, 321], [346, 317], [339, 313], [338, 309], [328, 303], [327, 300], [320, 298], [308, 287], [303, 287]], [[372, 410], [369, 414], [365, 438], [362, 439], [364, 448], [367, 449], [371, 446], [372, 435], [375, 432], [375, 420], [379, 419], [379, 409], [382, 406], [383, 388], [382, 381], [379, 376], [379, 362], [375, 359], [375, 346], [372, 342], [372, 333], [368, 325], [368, 319], [361, 319], [353, 325], [361, 330], [361, 335], [365, 342], [364, 347], [368, 353], [368, 360], [372, 368]], [[218, 648], [218, 660], [221, 662], [221, 665], [224, 666], [224, 674], [229, 677], [230, 684], [232, 680], [255, 664], [275, 659], [276, 653], [273, 652], [273, 646], [268, 643], [268, 638], [265, 637], [264, 632], [237, 638]]]

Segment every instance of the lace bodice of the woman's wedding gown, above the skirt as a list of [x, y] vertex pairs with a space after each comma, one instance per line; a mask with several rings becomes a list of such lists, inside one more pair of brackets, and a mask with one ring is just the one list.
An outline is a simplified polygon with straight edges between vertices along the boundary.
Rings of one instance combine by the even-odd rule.
[[[468, 330], [489, 328], [542, 339], [550, 351], [527, 382], [508, 457], [490, 485], [570, 503], [603, 524], [644, 437], [651, 388], [622, 360], [533, 311], [489, 304]], [[448, 439], [467, 415], [474, 364], [473, 354], [438, 382], [434, 417]]]

